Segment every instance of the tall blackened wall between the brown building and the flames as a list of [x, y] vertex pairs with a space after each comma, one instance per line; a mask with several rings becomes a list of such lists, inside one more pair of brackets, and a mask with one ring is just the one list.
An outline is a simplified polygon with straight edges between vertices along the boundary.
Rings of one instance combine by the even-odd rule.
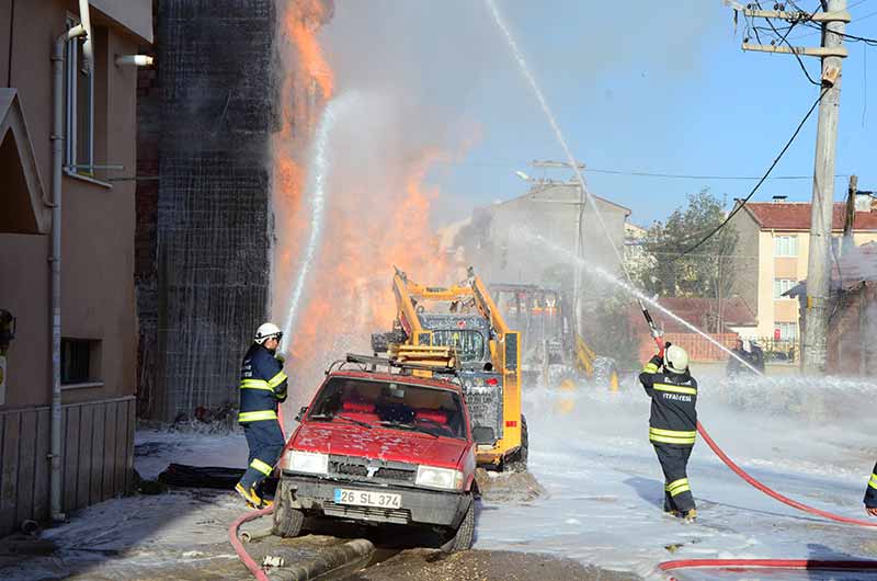
[[[266, 314], [276, 19], [273, 0], [159, 0], [157, 10], [161, 102], [140, 115], [160, 135], [161, 168], [155, 236], [144, 219], [139, 239], [155, 239], [139, 251], [156, 264], [138, 283], [141, 314], [155, 318], [141, 337], [155, 354], [141, 352], [141, 412], [173, 421], [237, 402], [240, 360]], [[141, 201], [149, 209], [149, 194]]]

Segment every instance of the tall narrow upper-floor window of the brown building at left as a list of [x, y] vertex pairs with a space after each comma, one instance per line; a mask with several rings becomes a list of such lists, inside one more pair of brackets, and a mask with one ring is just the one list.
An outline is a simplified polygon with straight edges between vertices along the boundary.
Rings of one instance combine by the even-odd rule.
[[[67, 16], [67, 30], [79, 24]], [[86, 68], [83, 37], [67, 43], [65, 54], [65, 117], [67, 150], [65, 166], [72, 173], [93, 174], [94, 159], [94, 62]], [[92, 44], [94, 39], [92, 38]], [[96, 60], [96, 59], [95, 59]]]

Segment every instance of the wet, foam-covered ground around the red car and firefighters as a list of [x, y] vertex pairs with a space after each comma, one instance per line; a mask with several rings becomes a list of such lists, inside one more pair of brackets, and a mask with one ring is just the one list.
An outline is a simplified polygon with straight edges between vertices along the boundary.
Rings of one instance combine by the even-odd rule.
[[[862, 495], [877, 457], [869, 402], [877, 387], [799, 378], [729, 386], [703, 377], [701, 385], [701, 421], [753, 476], [805, 503], [866, 517]], [[544, 491], [533, 493], [528, 479], [496, 480], [479, 505], [476, 550], [445, 557], [391, 547], [379, 552], [380, 565], [352, 579], [616, 578], [611, 571], [625, 572], [617, 577], [624, 579], [659, 577], [658, 563], [671, 559], [877, 558], [874, 529], [778, 504], [740, 480], [703, 442], [688, 474], [698, 521], [685, 524], [663, 515], [661, 472], [646, 441], [649, 401], [641, 389], [583, 390], [573, 403], [565, 413], [569, 406], [559, 405], [554, 394], [527, 391], [531, 474]], [[136, 467], [145, 478], [155, 477], [169, 458], [202, 466], [242, 466], [246, 458], [238, 434], [141, 431], [137, 443]], [[178, 489], [104, 502], [47, 531], [42, 544], [20, 544], [30, 547], [21, 550], [48, 555], [8, 556], [0, 560], [0, 577], [242, 579], [246, 571], [226, 542], [226, 528], [240, 512], [238, 500], [221, 491]], [[309, 535], [250, 547], [260, 557], [282, 549], [292, 558], [307, 558], [340, 542]], [[375, 542], [388, 546], [386, 537]], [[704, 571], [674, 577], [721, 578]], [[805, 577], [772, 576], [781, 578]], [[806, 578], [820, 577], [811, 572]]]

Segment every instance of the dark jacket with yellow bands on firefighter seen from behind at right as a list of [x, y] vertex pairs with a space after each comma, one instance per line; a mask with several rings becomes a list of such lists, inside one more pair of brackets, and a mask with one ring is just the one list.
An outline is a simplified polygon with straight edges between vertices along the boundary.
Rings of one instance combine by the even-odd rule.
[[651, 398], [649, 440], [654, 444], [693, 446], [697, 436], [697, 381], [688, 374], [661, 372], [656, 355], [639, 374]]

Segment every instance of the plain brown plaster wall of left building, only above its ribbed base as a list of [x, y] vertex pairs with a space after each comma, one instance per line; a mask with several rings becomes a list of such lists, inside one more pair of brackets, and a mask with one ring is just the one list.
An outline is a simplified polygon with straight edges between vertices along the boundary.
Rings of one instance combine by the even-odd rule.
[[[44, 187], [50, 189], [52, 38], [65, 29], [75, 2], [16, 2], [12, 84], [19, 90]], [[78, 13], [78, 10], [71, 10]], [[136, 164], [136, 75], [112, 64], [115, 54], [137, 50], [124, 30], [103, 29], [95, 19], [95, 158]], [[22, 31], [41, 31], [24, 34]], [[0, 46], [9, 45], [9, 22], [0, 23]], [[5, 66], [7, 61], [0, 62]], [[106, 158], [112, 152], [112, 159]], [[100, 157], [99, 157], [100, 156]], [[65, 401], [133, 394], [135, 377], [134, 184], [112, 187], [64, 178], [61, 334], [101, 341], [96, 378], [101, 387], [65, 392]], [[0, 308], [19, 318], [9, 360], [7, 408], [46, 405], [50, 398], [47, 236], [0, 233]], [[0, 408], [2, 409], [2, 408]]]

